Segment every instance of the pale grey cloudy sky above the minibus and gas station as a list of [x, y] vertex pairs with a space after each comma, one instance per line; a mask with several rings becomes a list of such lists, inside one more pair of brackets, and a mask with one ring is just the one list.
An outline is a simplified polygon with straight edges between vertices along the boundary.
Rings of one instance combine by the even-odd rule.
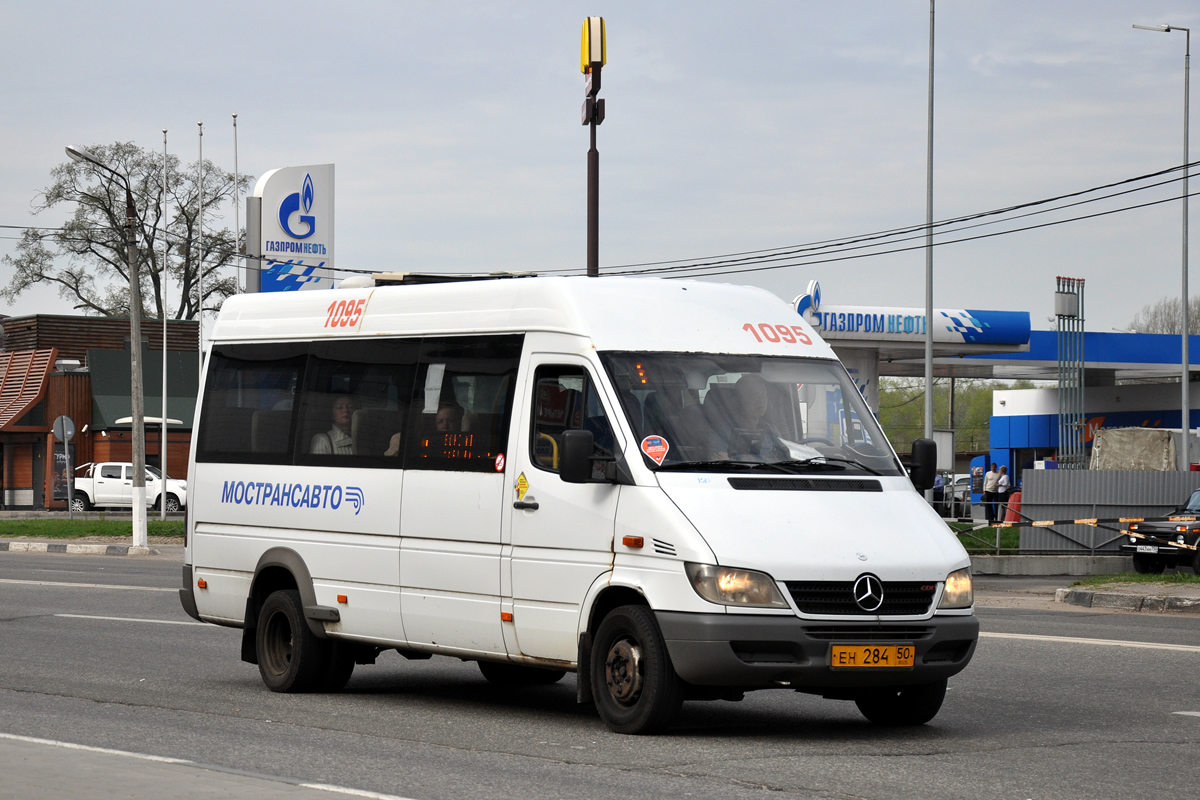
[[[2, 225], [65, 218], [31, 211], [67, 144], [160, 150], [168, 128], [169, 150], [193, 162], [203, 121], [205, 158], [232, 170], [236, 113], [241, 173], [336, 166], [341, 267], [582, 270], [588, 14], [604, 16], [608, 40], [601, 272], [925, 222], [928, 0], [5, 5]], [[935, 219], [1178, 167], [1184, 34], [1134, 23], [1200, 34], [1200, 5], [937, 2]], [[1181, 234], [1175, 199], [947, 243], [934, 251], [934, 303], [1028, 311], [1052, 329], [1055, 276], [1069, 276], [1086, 281], [1087, 330], [1123, 329], [1180, 295]], [[0, 230], [0, 255], [18, 235]], [[0, 265], [0, 284], [11, 277]], [[925, 252], [710, 279], [785, 300], [817, 279], [829, 305], [924, 307]], [[0, 313], [72, 311], [40, 288], [0, 300]]]

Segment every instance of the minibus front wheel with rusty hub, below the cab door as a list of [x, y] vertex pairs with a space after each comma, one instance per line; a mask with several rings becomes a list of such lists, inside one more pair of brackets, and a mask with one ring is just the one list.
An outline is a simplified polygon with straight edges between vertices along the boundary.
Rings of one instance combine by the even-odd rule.
[[656, 733], [678, 716], [683, 681], [649, 608], [622, 606], [600, 622], [592, 646], [592, 694], [614, 733]]

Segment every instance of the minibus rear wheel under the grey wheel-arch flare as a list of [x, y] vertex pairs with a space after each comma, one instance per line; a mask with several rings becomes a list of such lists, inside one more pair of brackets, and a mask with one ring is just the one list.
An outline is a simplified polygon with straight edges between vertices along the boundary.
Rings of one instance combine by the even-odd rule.
[[263, 603], [254, 646], [258, 673], [272, 692], [308, 692], [326, 676], [328, 644], [308, 630], [295, 589], [274, 591]]

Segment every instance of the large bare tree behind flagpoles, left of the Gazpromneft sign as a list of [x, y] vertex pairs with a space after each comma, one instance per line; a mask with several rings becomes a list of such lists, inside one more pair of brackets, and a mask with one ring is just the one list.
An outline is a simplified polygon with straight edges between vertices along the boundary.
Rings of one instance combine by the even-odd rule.
[[[179, 158], [167, 162], [167, 213], [162, 211], [162, 154], [131, 142], [88, 148], [101, 162], [127, 175], [137, 212], [137, 258], [140, 265], [143, 315], [168, 317], [164, 295], [178, 302], [175, 319], [194, 319], [236, 291], [235, 264], [244, 242], [228, 228], [204, 230], [204, 296], [199, 287], [199, 185], [197, 166], [180, 169]], [[66, 161], [50, 170], [52, 184], [35, 198], [34, 213], [64, 203], [74, 213], [62, 228], [26, 229], [12, 255], [4, 257], [13, 276], [0, 296], [10, 302], [38, 284], [56, 284], [59, 296], [88, 314], [118, 317], [130, 313], [125, 229], [125, 186], [110, 173], [86, 162]], [[241, 176], [242, 191], [253, 179]], [[234, 175], [204, 162], [204, 207], [209, 222], [233, 199]], [[163, 242], [167, 257], [163, 259]], [[176, 289], [164, 293], [168, 281]]]

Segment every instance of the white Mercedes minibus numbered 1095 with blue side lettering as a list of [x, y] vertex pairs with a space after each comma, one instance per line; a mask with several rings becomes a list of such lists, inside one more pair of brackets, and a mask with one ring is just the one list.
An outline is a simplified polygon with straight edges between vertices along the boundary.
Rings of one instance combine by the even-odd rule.
[[[979, 625], [970, 560], [833, 350], [756, 288], [358, 278], [226, 301], [184, 608], [272, 691], [384, 650], [576, 673], [618, 733], [782, 688], [922, 724]], [[916, 487], [916, 488], [914, 488]]]

